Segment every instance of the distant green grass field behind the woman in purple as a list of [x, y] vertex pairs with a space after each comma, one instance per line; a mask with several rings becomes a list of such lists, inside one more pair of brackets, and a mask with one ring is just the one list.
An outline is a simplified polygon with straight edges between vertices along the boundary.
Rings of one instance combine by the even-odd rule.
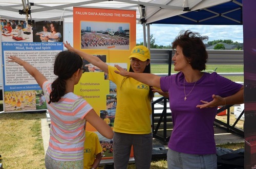
[[[217, 68], [217, 69], [216, 69]], [[215, 70], [217, 73], [243, 73], [244, 65], [206, 65], [206, 70]], [[171, 71], [172, 74], [178, 73], [174, 71], [174, 66], [172, 65]], [[152, 64], [151, 73], [153, 74], [168, 74], [168, 65], [167, 64]], [[243, 76], [227, 76], [226, 78], [234, 82], [244, 82]]]

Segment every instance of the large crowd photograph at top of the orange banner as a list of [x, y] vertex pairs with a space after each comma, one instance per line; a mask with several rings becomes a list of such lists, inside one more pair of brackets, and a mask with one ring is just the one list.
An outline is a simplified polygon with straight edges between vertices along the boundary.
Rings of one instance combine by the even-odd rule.
[[130, 24], [81, 21], [81, 49], [130, 49]]

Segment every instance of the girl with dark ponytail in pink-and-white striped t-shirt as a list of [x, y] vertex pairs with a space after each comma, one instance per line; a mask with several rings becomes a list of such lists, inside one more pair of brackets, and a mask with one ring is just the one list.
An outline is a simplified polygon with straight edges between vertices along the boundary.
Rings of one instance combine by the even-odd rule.
[[81, 57], [68, 51], [60, 52], [54, 63], [54, 74], [58, 76], [54, 82], [48, 81], [28, 62], [16, 56], [8, 58], [9, 62], [23, 66], [45, 93], [51, 116], [46, 168], [82, 169], [86, 121], [106, 138], [112, 139], [114, 133], [86, 100], [73, 93], [74, 86], [84, 73]]

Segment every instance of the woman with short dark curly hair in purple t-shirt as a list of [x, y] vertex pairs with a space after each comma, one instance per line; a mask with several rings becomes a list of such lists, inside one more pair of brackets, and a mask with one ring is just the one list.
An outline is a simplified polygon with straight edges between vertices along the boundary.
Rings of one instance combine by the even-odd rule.
[[173, 132], [167, 152], [168, 168], [217, 168], [214, 120], [218, 106], [244, 102], [244, 87], [217, 73], [205, 73], [207, 52], [201, 36], [189, 30], [173, 42], [175, 75], [127, 72], [116, 65], [115, 73], [134, 78], [169, 93]]

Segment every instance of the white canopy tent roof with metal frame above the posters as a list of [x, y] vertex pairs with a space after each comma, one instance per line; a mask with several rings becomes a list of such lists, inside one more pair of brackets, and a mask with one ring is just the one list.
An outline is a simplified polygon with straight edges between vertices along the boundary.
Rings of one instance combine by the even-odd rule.
[[[63, 0], [61, 2], [57, 0], [0, 0], [0, 16], [5, 19], [34, 21], [62, 20], [65, 18], [66, 23], [72, 23], [73, 7], [131, 9], [136, 10], [137, 21], [143, 25], [145, 44], [146, 24], [148, 26], [147, 39], [150, 39], [150, 25], [148, 23], [177, 15], [182, 16], [182, 14], [191, 11], [206, 10], [206, 8], [227, 2], [230, 0]], [[214, 11], [212, 13], [214, 16], [208, 19], [220, 15]], [[182, 17], [184, 18], [184, 16]], [[223, 13], [222, 17], [228, 18]]]

